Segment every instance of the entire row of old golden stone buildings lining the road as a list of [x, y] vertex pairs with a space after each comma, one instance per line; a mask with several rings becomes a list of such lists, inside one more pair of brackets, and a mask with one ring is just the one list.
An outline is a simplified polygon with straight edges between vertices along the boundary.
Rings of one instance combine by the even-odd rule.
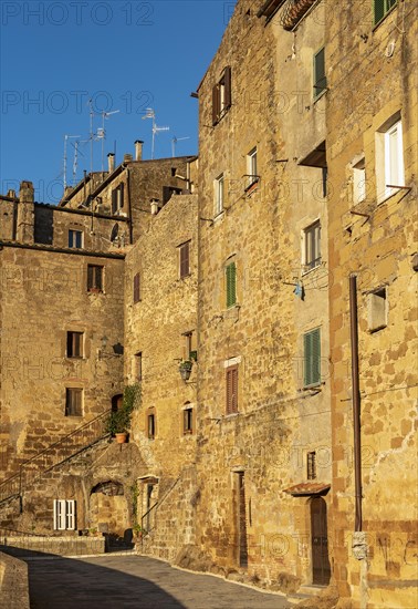
[[0, 197], [1, 526], [415, 607], [417, 9], [338, 10], [237, 2], [199, 159]]

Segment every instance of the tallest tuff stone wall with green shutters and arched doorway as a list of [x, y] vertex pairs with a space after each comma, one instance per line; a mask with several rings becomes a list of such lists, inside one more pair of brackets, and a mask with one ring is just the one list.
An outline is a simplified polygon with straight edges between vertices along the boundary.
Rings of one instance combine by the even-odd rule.
[[[326, 205], [314, 190], [321, 169], [297, 164], [324, 138], [324, 109], [301, 115], [295, 91], [306, 89], [307, 75], [311, 84], [311, 50], [324, 33], [317, 20], [306, 21], [292, 63], [292, 35], [275, 20], [257, 18], [262, 4], [238, 2], [199, 89], [200, 218], [213, 218], [213, 182], [221, 173], [226, 196], [224, 211], [199, 224], [198, 530], [200, 547], [223, 569], [285, 588], [292, 578], [293, 585], [312, 581], [312, 495], [292, 497], [285, 489], [306, 483], [309, 451], [324, 451], [316, 482], [331, 481], [326, 245], [323, 266], [309, 275], [302, 267], [304, 228], [321, 219], [326, 244]], [[209, 131], [212, 87], [227, 65], [232, 105]], [[254, 146], [260, 180], [245, 192], [245, 155]], [[231, 260], [238, 298], [227, 308]], [[323, 382], [311, 392], [303, 390], [303, 333], [317, 327]], [[226, 414], [231, 363], [239, 367], [236, 415]]]

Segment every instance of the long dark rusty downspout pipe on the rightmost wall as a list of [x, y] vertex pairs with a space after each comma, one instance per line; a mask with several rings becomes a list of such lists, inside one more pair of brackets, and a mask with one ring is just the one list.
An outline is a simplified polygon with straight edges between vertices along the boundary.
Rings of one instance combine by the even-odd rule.
[[362, 442], [360, 442], [360, 394], [358, 373], [358, 319], [357, 277], [349, 277], [349, 324], [352, 342], [352, 393], [354, 431], [354, 484], [355, 484], [355, 531], [363, 530], [362, 514]]

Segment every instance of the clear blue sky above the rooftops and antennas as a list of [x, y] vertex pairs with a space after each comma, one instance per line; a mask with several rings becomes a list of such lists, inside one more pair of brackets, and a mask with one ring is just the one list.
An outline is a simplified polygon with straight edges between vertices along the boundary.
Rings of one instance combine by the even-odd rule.
[[[105, 121], [106, 155], [116, 164], [144, 140], [151, 154], [151, 121], [169, 132], [156, 136], [155, 157], [197, 154], [198, 101], [190, 97], [203, 76], [234, 0], [6, 1], [1, 11], [0, 192], [30, 179], [36, 200], [62, 195], [64, 135], [88, 140]], [[73, 179], [75, 140], [67, 145], [67, 183]], [[84, 156], [83, 156], [84, 155]], [[90, 144], [80, 144], [77, 180], [90, 171]], [[102, 143], [94, 142], [94, 171], [102, 168]]]

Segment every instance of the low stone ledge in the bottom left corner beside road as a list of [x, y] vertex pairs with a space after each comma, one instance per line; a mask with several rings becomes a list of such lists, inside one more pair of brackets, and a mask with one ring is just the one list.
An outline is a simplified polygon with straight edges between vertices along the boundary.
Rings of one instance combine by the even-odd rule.
[[0, 607], [29, 609], [28, 565], [0, 553]]

